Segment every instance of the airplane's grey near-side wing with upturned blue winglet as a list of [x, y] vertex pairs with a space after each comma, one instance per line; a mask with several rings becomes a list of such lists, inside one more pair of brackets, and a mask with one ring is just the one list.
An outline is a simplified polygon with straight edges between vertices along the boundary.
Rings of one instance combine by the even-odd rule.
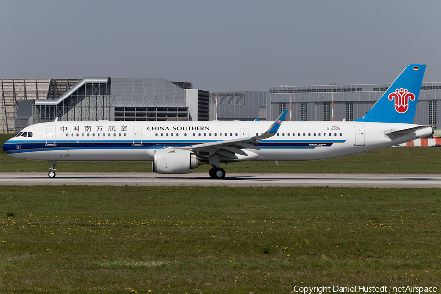
[[184, 148], [187, 150], [191, 150], [196, 154], [199, 154], [200, 152], [208, 152], [207, 155], [209, 156], [214, 155], [215, 153], [230, 158], [237, 158], [235, 154], [248, 156], [248, 154], [245, 153], [242, 149], [248, 148], [259, 150], [259, 147], [256, 147], [255, 145], [259, 142], [259, 140], [270, 138], [277, 134], [277, 131], [279, 130], [279, 127], [282, 124], [287, 113], [288, 110], [282, 112], [279, 117], [271, 124], [268, 130], [266, 130], [265, 133], [261, 135], [196, 144], [192, 146], [186, 146]]

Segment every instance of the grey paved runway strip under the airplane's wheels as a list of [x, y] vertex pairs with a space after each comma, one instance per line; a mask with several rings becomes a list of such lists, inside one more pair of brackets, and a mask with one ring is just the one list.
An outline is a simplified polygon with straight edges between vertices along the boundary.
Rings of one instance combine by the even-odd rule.
[[163, 175], [152, 172], [0, 172], [0, 185], [225, 186], [225, 187], [377, 187], [441, 188], [441, 174], [207, 173]]

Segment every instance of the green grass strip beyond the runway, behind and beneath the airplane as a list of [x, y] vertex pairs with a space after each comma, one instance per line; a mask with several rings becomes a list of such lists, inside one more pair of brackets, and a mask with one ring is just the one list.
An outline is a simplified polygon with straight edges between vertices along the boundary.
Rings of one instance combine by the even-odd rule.
[[[0, 142], [12, 135], [0, 135]], [[49, 163], [17, 159], [0, 151], [0, 172], [49, 172]], [[226, 172], [441, 173], [441, 148], [383, 148], [363, 154], [318, 161], [245, 161], [222, 164]], [[202, 165], [193, 172], [208, 172]], [[58, 162], [57, 172], [151, 172], [150, 161]]]

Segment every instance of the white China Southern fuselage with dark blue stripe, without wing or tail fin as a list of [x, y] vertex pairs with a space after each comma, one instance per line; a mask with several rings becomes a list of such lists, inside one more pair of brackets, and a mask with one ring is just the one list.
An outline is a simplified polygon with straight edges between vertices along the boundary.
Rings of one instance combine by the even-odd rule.
[[[85, 121], [31, 125], [3, 145], [14, 157], [56, 161], [144, 161], [153, 151], [260, 135], [270, 121]], [[404, 136], [386, 133], [417, 125], [345, 121], [284, 121], [257, 144], [253, 160], [318, 160], [341, 157], [431, 135], [431, 127]], [[246, 149], [245, 149], [246, 150]], [[249, 157], [251, 159], [251, 156]], [[247, 160], [242, 157], [240, 160]], [[239, 160], [237, 160], [239, 161]]]

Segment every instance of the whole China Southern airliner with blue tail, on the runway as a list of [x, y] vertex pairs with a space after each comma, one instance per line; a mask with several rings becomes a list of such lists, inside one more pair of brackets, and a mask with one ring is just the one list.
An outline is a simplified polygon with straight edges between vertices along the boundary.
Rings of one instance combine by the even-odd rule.
[[184, 174], [246, 160], [319, 160], [363, 153], [432, 135], [412, 124], [426, 65], [411, 64], [365, 116], [354, 121], [55, 121], [25, 127], [6, 154], [49, 161], [152, 161], [153, 172]]

